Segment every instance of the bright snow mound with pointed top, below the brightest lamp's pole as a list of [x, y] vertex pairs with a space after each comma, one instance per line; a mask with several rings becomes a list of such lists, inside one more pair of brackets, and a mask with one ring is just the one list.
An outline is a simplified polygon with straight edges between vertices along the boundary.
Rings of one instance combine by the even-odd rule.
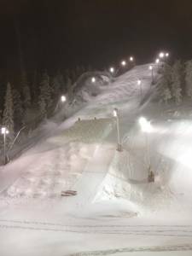
[[172, 203], [172, 191], [162, 183], [160, 175], [156, 177], [155, 183], [148, 183], [147, 178], [131, 179], [132, 176], [128, 153], [117, 152], [95, 201], [123, 198], [137, 205], [141, 214], [143, 211], [159, 211], [159, 207], [165, 209]]

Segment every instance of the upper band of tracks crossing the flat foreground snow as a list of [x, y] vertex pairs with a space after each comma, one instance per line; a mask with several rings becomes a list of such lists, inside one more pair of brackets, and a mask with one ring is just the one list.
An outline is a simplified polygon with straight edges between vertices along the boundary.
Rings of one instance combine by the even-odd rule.
[[188, 225], [66, 225], [49, 222], [9, 219], [0, 219], [0, 223], [1, 229], [39, 230], [124, 236], [192, 237], [192, 226]]

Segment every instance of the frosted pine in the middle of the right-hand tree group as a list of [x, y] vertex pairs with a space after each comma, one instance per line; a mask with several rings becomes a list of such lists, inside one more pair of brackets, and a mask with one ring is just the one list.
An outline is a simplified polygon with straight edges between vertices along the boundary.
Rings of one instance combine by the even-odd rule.
[[181, 61], [175, 61], [172, 67], [172, 97], [176, 104], [182, 102], [182, 64]]

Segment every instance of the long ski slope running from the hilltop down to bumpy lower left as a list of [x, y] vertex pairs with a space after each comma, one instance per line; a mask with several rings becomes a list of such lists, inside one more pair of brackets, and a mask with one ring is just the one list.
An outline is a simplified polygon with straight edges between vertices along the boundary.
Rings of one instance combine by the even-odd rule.
[[[143, 83], [141, 88], [137, 84], [137, 79], [142, 79]], [[5, 189], [4, 194], [17, 197], [17, 196], [30, 196], [33, 195], [49, 195], [46, 194], [46, 189], [51, 189], [54, 194], [53, 187], [59, 187], [57, 195], [60, 196], [61, 187], [66, 189], [63, 185], [57, 185], [61, 183], [63, 178], [66, 181], [66, 176], [68, 172], [77, 172], [75, 166], [75, 158], [77, 165], [79, 166], [79, 172], [84, 170], [84, 165], [81, 166], [81, 154], [79, 151], [87, 148], [88, 154], [85, 154], [85, 160], [90, 158], [90, 148], [101, 148], [105, 146], [103, 138], [108, 136], [108, 133], [115, 125], [115, 120], [113, 119], [113, 108], [118, 107], [120, 109], [120, 114], [124, 114], [125, 111], [128, 115], [131, 115], [132, 111], [138, 108], [141, 100], [146, 94], [146, 91], [150, 87], [150, 73], [148, 72], [148, 65], [144, 67], [136, 67], [129, 73], [121, 76], [120, 79], [116, 79], [113, 84], [108, 84], [98, 87], [102, 87], [102, 91], [98, 96], [92, 96], [90, 102], [86, 104], [84, 108], [81, 108], [78, 113], [74, 114], [67, 121], [63, 122], [59, 128], [55, 129], [55, 134], [47, 138], [44, 142], [40, 142], [36, 147], [32, 148], [19, 160], [15, 160], [6, 166], [7, 173], [14, 169], [20, 170], [20, 166], [17, 165], [21, 163], [23, 159], [35, 159], [35, 163], [22, 167], [25, 170], [22, 172], [18, 179], [15, 179], [15, 183]], [[96, 87], [96, 84], [92, 86]], [[86, 90], [90, 87], [85, 84]], [[84, 94], [84, 88], [81, 92]], [[86, 100], [88, 100], [86, 98]], [[66, 107], [64, 107], [65, 111]], [[79, 119], [79, 121], [78, 121]], [[66, 129], [67, 127], [67, 129]], [[115, 149], [115, 132], [113, 132], [114, 137], [112, 142], [113, 148]], [[82, 144], [84, 143], [84, 145]], [[94, 152], [94, 149], [93, 149]], [[92, 152], [92, 154], [93, 154]], [[26, 161], [26, 162], [27, 162]], [[23, 161], [25, 162], [25, 161]], [[66, 166], [66, 167], [65, 167]], [[14, 171], [15, 172], [15, 171]], [[55, 176], [57, 178], [55, 178]], [[13, 182], [13, 180], [11, 180]], [[33, 191], [34, 190], [34, 191]]]

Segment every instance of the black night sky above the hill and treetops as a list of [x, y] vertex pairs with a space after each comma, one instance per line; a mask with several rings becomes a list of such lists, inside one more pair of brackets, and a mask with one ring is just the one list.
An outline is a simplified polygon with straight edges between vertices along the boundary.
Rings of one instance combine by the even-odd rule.
[[159, 49], [192, 58], [191, 0], [0, 0], [0, 67], [104, 67]]

